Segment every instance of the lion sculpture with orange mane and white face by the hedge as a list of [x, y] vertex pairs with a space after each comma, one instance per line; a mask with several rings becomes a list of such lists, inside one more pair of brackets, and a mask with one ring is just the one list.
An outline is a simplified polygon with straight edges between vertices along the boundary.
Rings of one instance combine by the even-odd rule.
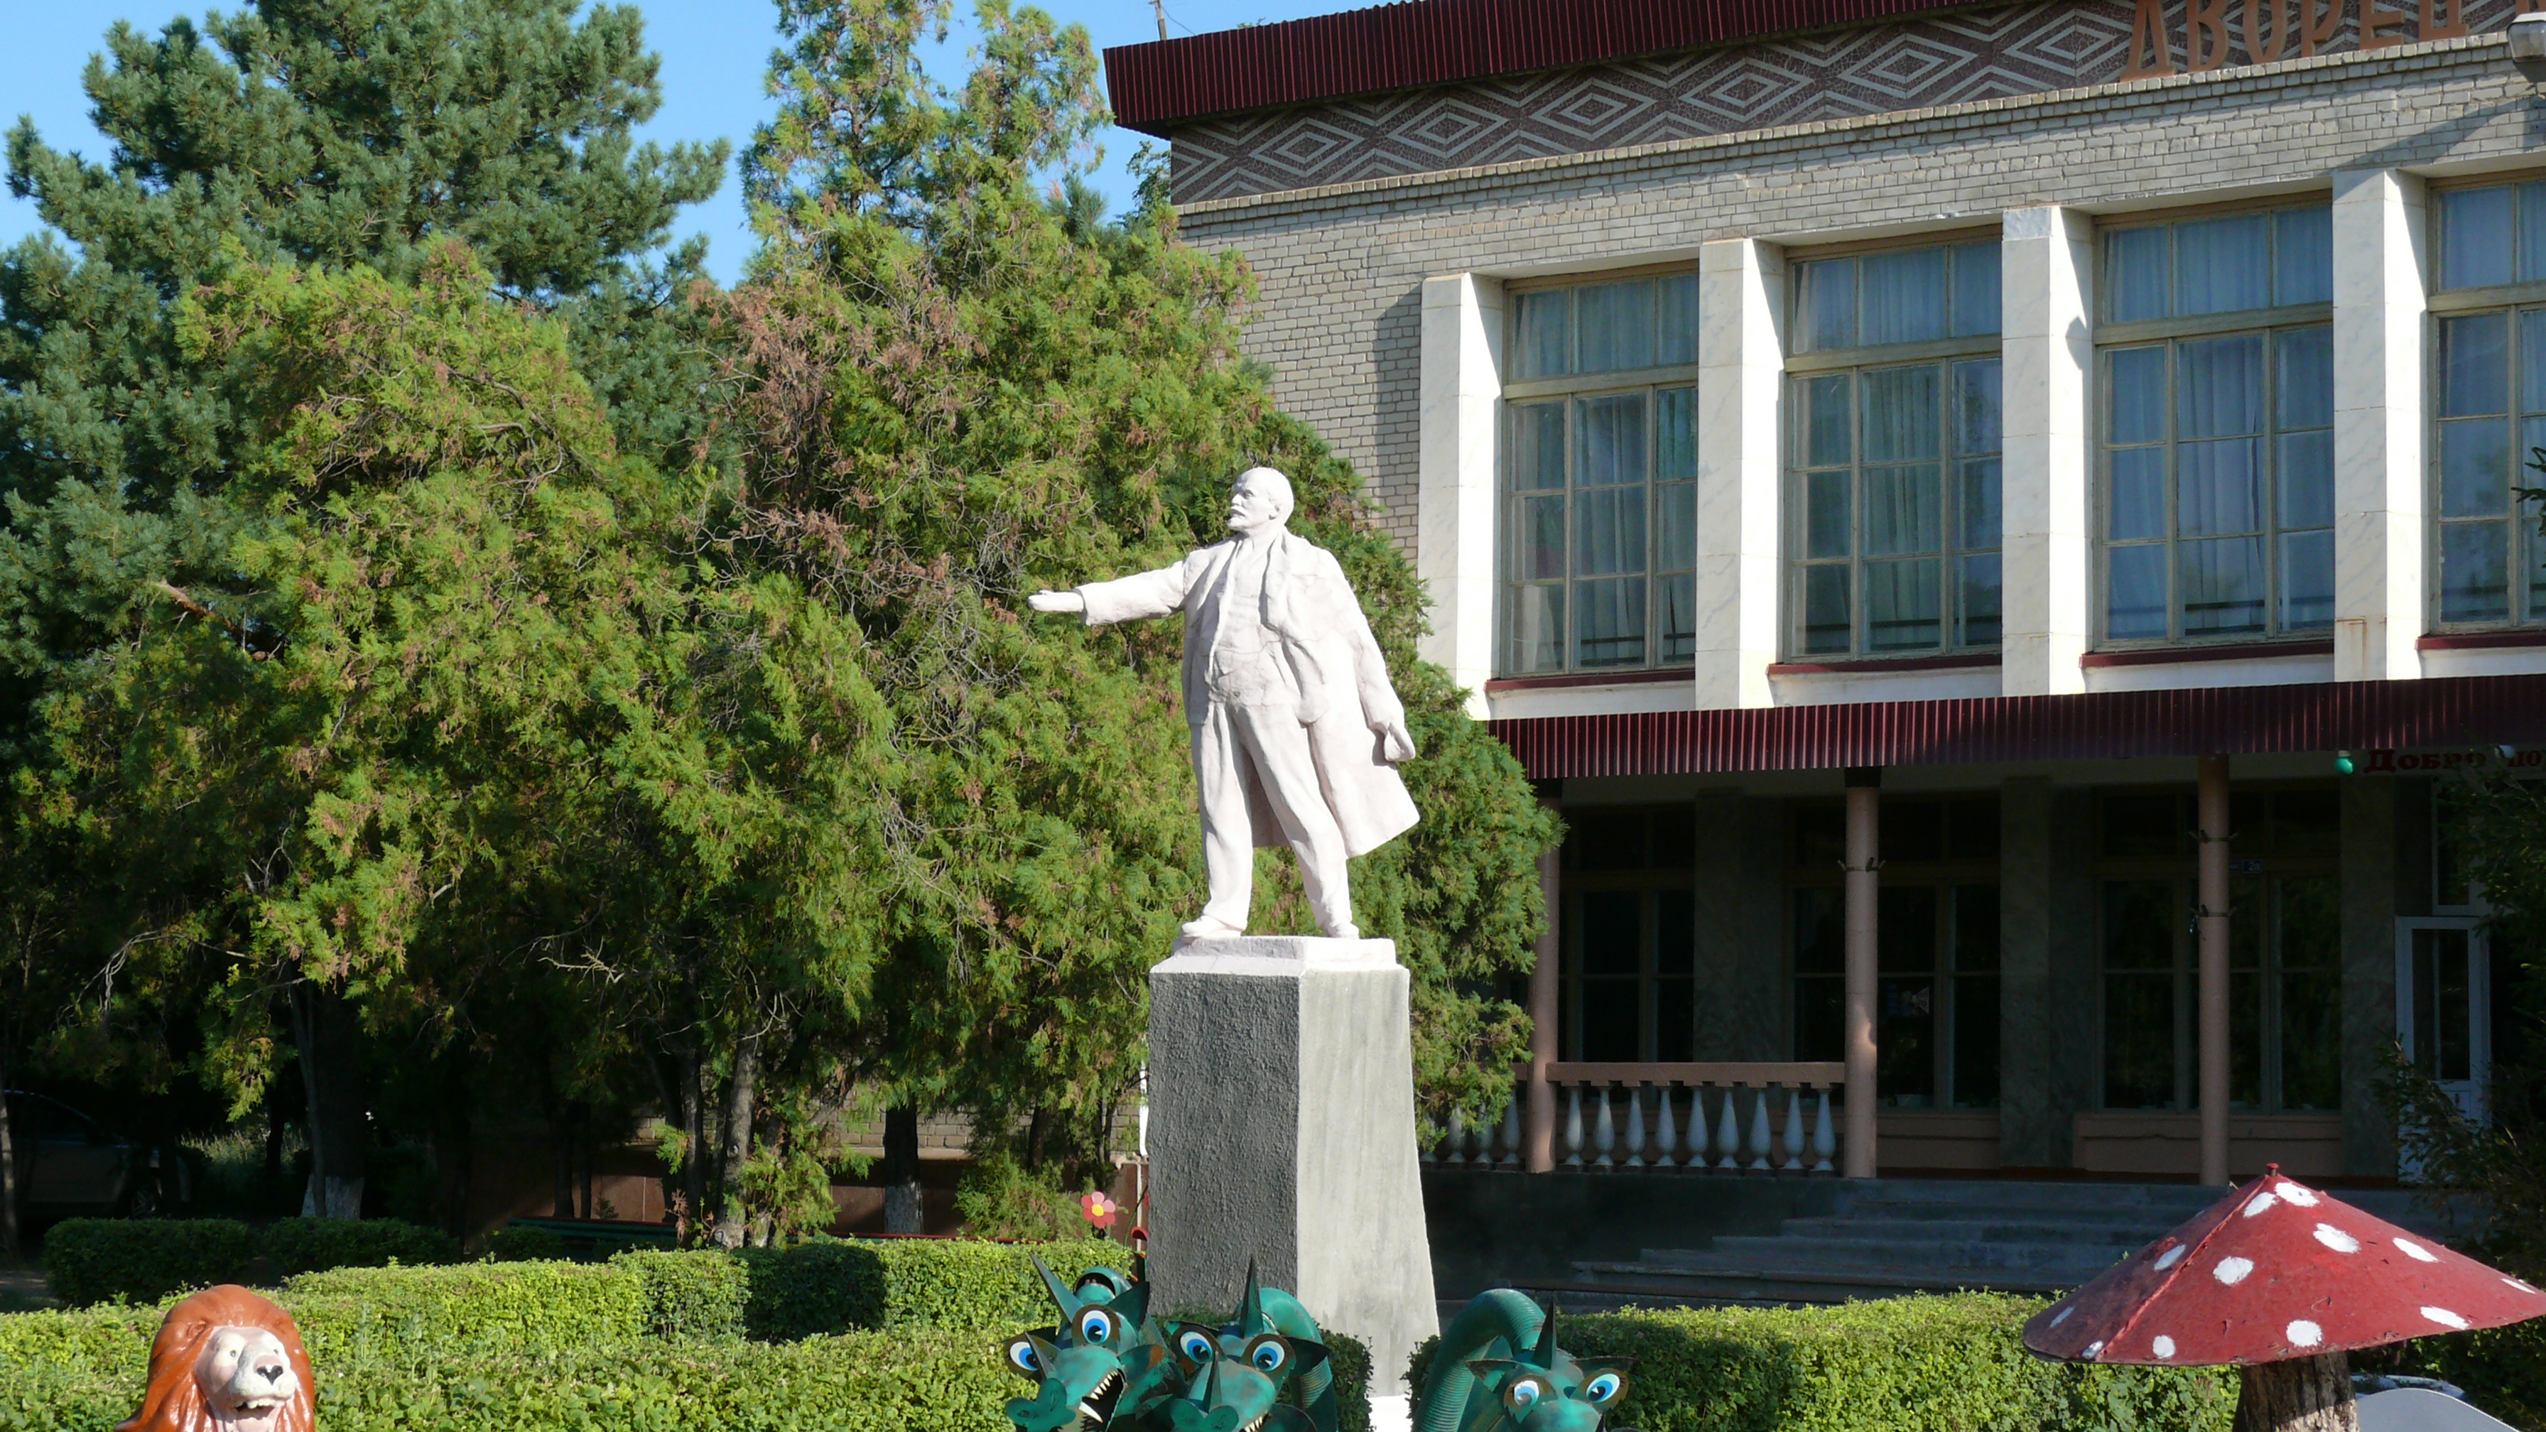
[[293, 1315], [237, 1284], [178, 1302], [150, 1340], [143, 1409], [115, 1432], [313, 1432]]

